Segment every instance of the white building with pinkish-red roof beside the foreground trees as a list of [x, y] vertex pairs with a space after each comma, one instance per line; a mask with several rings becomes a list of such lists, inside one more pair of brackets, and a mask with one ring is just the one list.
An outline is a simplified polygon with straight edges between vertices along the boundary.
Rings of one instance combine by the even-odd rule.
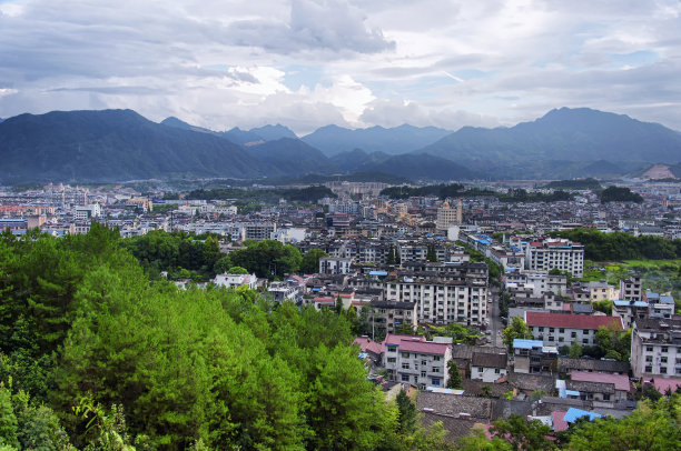
[[426, 341], [423, 337], [388, 334], [383, 345], [383, 365], [391, 380], [421, 389], [447, 385], [451, 344]]

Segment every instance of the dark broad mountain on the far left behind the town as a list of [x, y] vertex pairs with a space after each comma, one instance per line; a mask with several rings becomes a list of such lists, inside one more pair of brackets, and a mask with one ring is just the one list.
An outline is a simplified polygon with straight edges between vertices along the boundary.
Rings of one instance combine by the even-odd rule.
[[217, 136], [166, 127], [131, 110], [20, 114], [0, 123], [0, 179], [126, 180], [259, 177], [261, 164]]

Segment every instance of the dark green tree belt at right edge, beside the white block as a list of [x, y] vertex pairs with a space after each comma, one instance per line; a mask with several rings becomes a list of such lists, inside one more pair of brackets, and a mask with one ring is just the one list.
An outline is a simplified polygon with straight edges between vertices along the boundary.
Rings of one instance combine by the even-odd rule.
[[681, 258], [681, 240], [660, 237], [634, 237], [624, 232], [602, 233], [592, 229], [550, 232], [584, 244], [584, 257], [594, 261], [669, 260]]

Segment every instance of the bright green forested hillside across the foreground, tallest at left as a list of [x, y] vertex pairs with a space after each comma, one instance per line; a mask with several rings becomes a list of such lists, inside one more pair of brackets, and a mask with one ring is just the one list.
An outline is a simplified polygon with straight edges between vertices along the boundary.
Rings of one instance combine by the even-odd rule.
[[[511, 449], [482, 432], [446, 442], [407, 397], [386, 402], [346, 314], [274, 305], [251, 290], [179, 290], [150, 280], [127, 249], [149, 271], [208, 270], [219, 261], [210, 239], [121, 241], [96, 223], [65, 239], [0, 234], [0, 450]], [[559, 444], [616, 435], [673, 449], [678, 412], [675, 394], [630, 419], [579, 424]], [[516, 420], [496, 422], [500, 437], [554, 448], [546, 427]]]

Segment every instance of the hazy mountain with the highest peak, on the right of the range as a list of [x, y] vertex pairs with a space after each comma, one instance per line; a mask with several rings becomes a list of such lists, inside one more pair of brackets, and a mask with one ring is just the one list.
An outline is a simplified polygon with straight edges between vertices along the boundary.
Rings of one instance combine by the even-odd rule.
[[464, 127], [417, 152], [466, 166], [476, 160], [497, 164], [551, 160], [675, 163], [681, 160], [681, 133], [628, 116], [561, 108], [511, 128]]

